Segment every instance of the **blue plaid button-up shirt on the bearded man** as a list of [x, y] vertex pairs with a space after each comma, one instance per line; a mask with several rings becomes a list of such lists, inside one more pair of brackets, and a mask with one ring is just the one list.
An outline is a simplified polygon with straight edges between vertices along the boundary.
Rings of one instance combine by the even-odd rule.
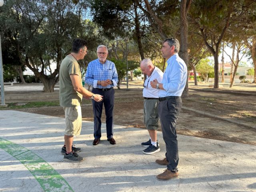
[[97, 81], [105, 81], [110, 79], [113, 81], [113, 85], [116, 86], [118, 82], [118, 75], [116, 72], [116, 66], [112, 61], [106, 60], [104, 64], [101, 64], [99, 59], [93, 60], [88, 64], [85, 82], [93, 88], [110, 88], [113, 85], [103, 87], [97, 85]]

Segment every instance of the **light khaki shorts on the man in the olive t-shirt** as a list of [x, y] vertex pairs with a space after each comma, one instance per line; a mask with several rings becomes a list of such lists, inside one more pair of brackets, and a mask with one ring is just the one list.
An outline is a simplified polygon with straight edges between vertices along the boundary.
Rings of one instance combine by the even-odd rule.
[[65, 135], [80, 135], [82, 129], [82, 112], [81, 107], [64, 107], [66, 129]]

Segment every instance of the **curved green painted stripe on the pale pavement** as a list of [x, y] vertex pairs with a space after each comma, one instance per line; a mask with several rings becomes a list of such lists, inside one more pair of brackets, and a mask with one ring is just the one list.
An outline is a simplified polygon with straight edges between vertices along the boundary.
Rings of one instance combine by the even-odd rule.
[[24, 164], [45, 192], [74, 192], [52, 166], [27, 148], [2, 138], [0, 148]]

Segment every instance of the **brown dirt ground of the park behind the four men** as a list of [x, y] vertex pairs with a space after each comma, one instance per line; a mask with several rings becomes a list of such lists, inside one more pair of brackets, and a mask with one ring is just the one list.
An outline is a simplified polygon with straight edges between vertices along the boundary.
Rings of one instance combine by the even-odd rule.
[[[135, 87], [135, 86], [134, 86]], [[193, 87], [193, 86], [192, 86]], [[212, 89], [209, 89], [212, 90]], [[183, 99], [183, 106], [201, 112], [206, 112], [222, 118], [235, 120], [247, 124], [231, 123], [219, 118], [202, 115], [191, 110], [182, 109], [177, 121], [177, 133], [202, 138], [224, 140], [256, 145], [256, 88], [245, 91], [238, 90], [212, 92], [205, 88], [196, 87], [189, 90], [189, 98]], [[44, 93], [41, 91], [16, 91], [6, 92], [6, 103], [51, 101], [58, 100], [58, 91]], [[64, 117], [61, 107], [44, 107], [22, 109], [20, 111], [42, 115]], [[93, 121], [92, 105], [84, 100], [82, 105], [82, 118]], [[105, 114], [102, 114], [105, 122]], [[142, 88], [129, 88], [115, 90], [114, 124], [127, 127], [145, 128], [143, 122]], [[161, 126], [159, 123], [159, 131]], [[147, 136], [145, 136], [147, 139]]]

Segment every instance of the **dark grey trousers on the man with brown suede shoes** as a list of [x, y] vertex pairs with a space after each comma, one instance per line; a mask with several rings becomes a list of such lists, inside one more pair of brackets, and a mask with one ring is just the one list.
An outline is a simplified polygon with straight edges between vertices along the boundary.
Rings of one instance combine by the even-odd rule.
[[160, 101], [158, 105], [158, 113], [162, 126], [162, 134], [166, 144], [166, 158], [169, 162], [168, 170], [178, 168], [179, 152], [178, 140], [176, 134], [176, 120], [182, 106], [180, 97], [174, 99]]

